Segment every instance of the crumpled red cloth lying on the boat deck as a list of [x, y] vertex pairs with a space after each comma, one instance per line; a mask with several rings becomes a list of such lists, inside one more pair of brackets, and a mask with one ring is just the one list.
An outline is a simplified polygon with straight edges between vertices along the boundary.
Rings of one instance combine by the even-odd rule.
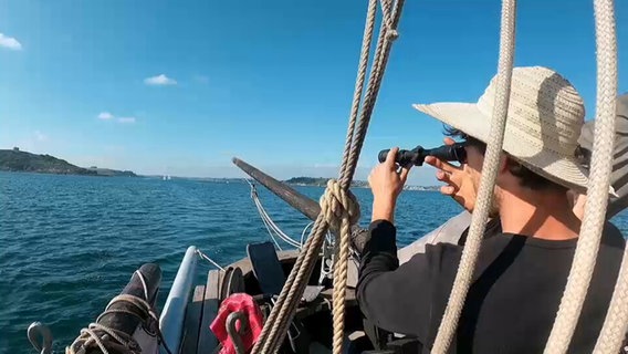
[[[236, 293], [231, 294], [229, 298], [224, 299], [220, 304], [218, 310], [218, 315], [213, 322], [209, 325], [210, 330], [216, 334], [216, 337], [222, 344], [222, 350], [220, 354], [236, 354], [236, 348], [233, 347], [233, 342], [227, 333], [227, 317], [233, 312], [243, 312], [249, 320], [249, 331], [245, 331], [243, 335], [240, 335], [242, 343], [248, 351], [253, 347], [253, 344], [260, 336], [263, 326], [263, 316], [260, 306], [255, 303], [253, 298], [247, 293]], [[236, 324], [236, 330], [240, 333], [241, 324], [240, 321]]]

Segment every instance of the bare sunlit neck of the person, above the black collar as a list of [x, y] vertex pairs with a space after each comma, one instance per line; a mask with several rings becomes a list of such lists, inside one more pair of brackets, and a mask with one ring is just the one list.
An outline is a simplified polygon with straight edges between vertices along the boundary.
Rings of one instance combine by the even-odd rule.
[[547, 240], [578, 237], [580, 220], [572, 211], [566, 194], [502, 190], [499, 199], [503, 232]]

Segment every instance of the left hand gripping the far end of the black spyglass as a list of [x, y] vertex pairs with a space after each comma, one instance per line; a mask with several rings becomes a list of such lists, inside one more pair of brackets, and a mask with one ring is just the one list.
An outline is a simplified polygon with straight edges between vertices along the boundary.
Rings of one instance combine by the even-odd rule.
[[410, 168], [402, 167], [399, 173], [397, 171], [399, 167], [395, 163], [395, 156], [398, 150], [398, 147], [391, 148], [386, 156], [386, 160], [373, 168], [368, 176], [368, 185], [373, 192], [371, 220], [394, 222], [397, 197], [404, 189], [410, 171]]

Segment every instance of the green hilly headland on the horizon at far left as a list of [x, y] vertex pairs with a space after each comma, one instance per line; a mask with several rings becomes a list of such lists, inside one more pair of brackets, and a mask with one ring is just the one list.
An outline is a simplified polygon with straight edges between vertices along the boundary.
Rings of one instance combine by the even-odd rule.
[[83, 168], [48, 154], [31, 154], [14, 147], [0, 149], [0, 170], [55, 175], [84, 175], [107, 177], [137, 177], [130, 170], [116, 170], [92, 166]]

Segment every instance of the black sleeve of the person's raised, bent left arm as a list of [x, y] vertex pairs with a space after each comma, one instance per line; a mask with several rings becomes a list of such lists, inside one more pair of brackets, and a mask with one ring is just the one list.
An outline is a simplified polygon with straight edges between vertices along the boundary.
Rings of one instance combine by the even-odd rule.
[[436, 279], [430, 263], [439, 247], [430, 246], [426, 253], [418, 253], [399, 267], [395, 226], [377, 220], [369, 231], [357, 284], [359, 308], [378, 327], [412, 335], [425, 343]]

